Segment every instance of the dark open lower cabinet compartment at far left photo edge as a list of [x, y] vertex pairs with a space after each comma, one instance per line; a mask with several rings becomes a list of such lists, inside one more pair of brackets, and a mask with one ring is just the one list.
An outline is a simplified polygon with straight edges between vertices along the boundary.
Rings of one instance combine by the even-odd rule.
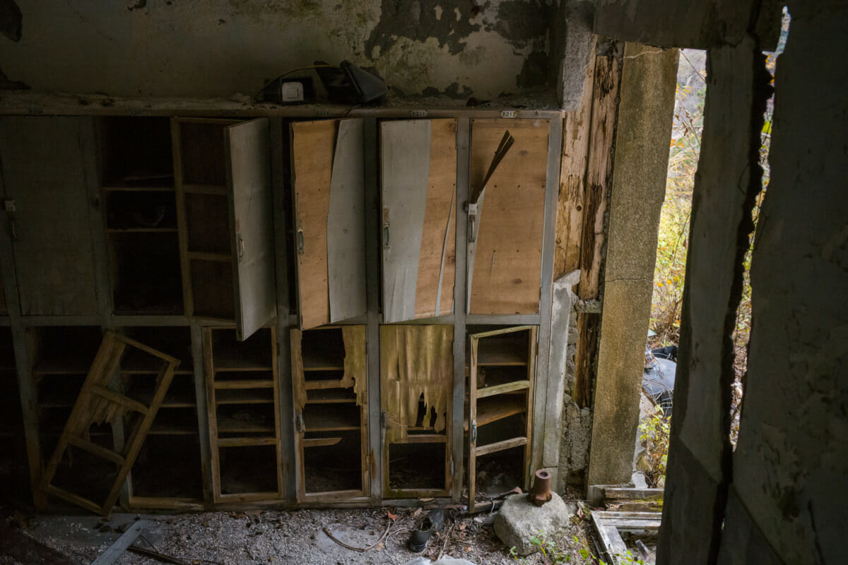
[[24, 420], [8, 327], [0, 327], [0, 453], [0, 495], [20, 496], [29, 491]]

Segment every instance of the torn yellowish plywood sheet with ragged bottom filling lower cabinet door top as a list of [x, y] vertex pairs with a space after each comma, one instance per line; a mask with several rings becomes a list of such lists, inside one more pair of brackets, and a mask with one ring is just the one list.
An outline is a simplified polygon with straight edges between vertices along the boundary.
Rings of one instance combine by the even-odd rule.
[[454, 382], [454, 327], [450, 325], [384, 325], [380, 328], [380, 381], [386, 437], [404, 441], [416, 425], [418, 401], [427, 414], [436, 412], [435, 431], [449, 418]]

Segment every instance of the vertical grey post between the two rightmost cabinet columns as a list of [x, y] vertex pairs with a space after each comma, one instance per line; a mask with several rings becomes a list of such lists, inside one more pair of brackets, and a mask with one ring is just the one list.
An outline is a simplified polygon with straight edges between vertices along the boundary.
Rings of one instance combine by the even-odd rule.
[[[470, 180], [471, 167], [471, 119], [460, 118], [456, 120], [456, 202], [468, 200], [468, 183]], [[457, 214], [456, 222], [456, 266], [454, 276], [454, 386], [453, 386], [453, 408], [451, 413], [455, 425], [451, 428], [453, 433], [452, 450], [450, 453], [451, 468], [453, 468], [453, 482], [451, 485], [451, 499], [460, 501], [462, 494], [462, 451], [465, 446], [463, 441], [464, 426], [461, 424], [465, 419], [466, 398], [466, 258], [464, 252], [466, 241], [468, 241], [468, 223], [464, 214]], [[463, 252], [459, 252], [463, 250]], [[457, 423], [457, 418], [459, 422]]]

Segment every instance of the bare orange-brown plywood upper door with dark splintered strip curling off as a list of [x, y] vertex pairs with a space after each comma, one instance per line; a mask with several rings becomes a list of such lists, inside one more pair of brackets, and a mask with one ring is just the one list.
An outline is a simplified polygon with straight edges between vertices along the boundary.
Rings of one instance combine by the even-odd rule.
[[[515, 141], [482, 186], [507, 130]], [[471, 120], [470, 192], [483, 193], [469, 222], [467, 313], [538, 313], [549, 131], [547, 119]]]

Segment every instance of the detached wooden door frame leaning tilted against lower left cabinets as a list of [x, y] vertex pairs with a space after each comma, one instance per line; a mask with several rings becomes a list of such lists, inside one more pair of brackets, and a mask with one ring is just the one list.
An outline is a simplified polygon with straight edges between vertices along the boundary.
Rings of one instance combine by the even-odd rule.
[[[145, 405], [142, 402], [138, 402], [109, 389], [109, 379], [118, 370], [121, 358], [126, 353], [127, 346], [141, 350], [153, 357], [158, 357], [163, 363], [162, 368], [159, 369], [159, 376], [156, 379], [153, 400], [149, 405]], [[44, 501], [43, 504], [46, 505], [47, 495], [53, 495], [92, 512], [103, 514], [103, 516], [109, 514], [120, 494], [120, 489], [126, 480], [126, 476], [130, 473], [132, 464], [136, 461], [138, 452], [142, 448], [142, 443], [148, 435], [150, 426], [153, 424], [153, 418], [156, 417], [156, 413], [159, 411], [159, 406], [168, 392], [170, 381], [174, 378], [174, 371], [179, 364], [179, 359], [158, 352], [138, 341], [131, 340], [124, 335], [118, 335], [111, 331], [106, 332], [98, 349], [97, 356], [94, 357], [94, 362], [88, 370], [88, 375], [82, 385], [80, 395], [76, 398], [68, 422], [65, 424], [62, 435], [59, 437], [59, 443], [53, 451], [53, 456], [50, 457], [50, 462], [47, 463], [44, 474], [42, 474], [38, 490], [44, 495], [42, 499]], [[126, 413], [131, 411], [141, 413], [143, 418], [131, 430], [129, 440], [122, 453], [98, 446], [88, 439], [88, 430], [92, 424], [113, 422], [116, 418], [122, 418]], [[102, 505], [52, 484], [56, 471], [59, 468], [59, 463], [62, 461], [64, 452], [69, 445], [88, 451], [92, 455], [109, 460], [120, 466], [118, 475], [115, 477], [112, 488], [109, 490], [109, 496], [106, 497], [106, 501]], [[43, 509], [39, 508], [39, 510]]]

